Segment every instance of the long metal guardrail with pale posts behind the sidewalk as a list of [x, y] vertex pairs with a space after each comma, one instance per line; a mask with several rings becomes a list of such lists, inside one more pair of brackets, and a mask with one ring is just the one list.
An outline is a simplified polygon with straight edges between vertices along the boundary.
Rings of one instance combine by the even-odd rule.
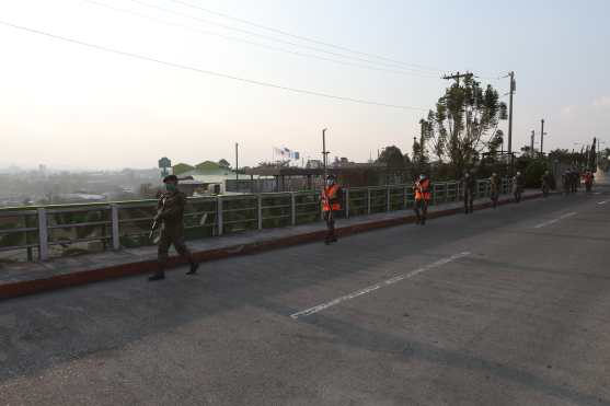
[[[502, 179], [500, 194], [511, 189]], [[459, 182], [431, 185], [431, 205], [461, 199]], [[479, 179], [476, 196], [488, 197], [490, 181]], [[406, 210], [413, 207], [411, 185], [388, 185], [344, 189], [339, 217]], [[22, 251], [33, 260], [33, 250], [41, 260], [51, 250], [69, 248], [78, 243], [97, 243], [99, 250], [150, 245], [148, 239], [156, 200], [136, 200], [93, 205], [64, 205], [0, 209], [0, 252]], [[246, 230], [291, 227], [321, 221], [320, 192], [246, 194], [189, 198], [184, 216], [188, 240]]]

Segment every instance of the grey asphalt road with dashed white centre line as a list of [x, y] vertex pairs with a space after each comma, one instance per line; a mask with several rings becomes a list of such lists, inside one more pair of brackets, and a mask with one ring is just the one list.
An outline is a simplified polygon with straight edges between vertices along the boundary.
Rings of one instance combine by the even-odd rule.
[[2, 302], [0, 404], [610, 405], [599, 190]]

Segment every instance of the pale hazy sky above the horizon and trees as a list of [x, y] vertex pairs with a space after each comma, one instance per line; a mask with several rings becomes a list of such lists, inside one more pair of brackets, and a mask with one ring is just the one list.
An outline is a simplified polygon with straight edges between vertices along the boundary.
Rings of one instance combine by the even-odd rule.
[[[411, 74], [407, 63], [488, 78], [514, 70], [514, 148], [529, 143], [532, 129], [538, 140], [542, 117], [545, 150], [596, 135], [610, 147], [606, 0], [2, 0], [0, 21], [223, 74], [425, 109], [448, 82], [440, 71]], [[240, 164], [271, 160], [274, 146], [319, 158], [324, 127], [332, 156], [365, 161], [388, 144], [410, 151], [425, 115], [160, 66], [2, 24], [0, 53], [0, 166], [151, 167], [162, 155], [233, 163], [234, 142]], [[507, 79], [483, 82], [508, 89]]]

